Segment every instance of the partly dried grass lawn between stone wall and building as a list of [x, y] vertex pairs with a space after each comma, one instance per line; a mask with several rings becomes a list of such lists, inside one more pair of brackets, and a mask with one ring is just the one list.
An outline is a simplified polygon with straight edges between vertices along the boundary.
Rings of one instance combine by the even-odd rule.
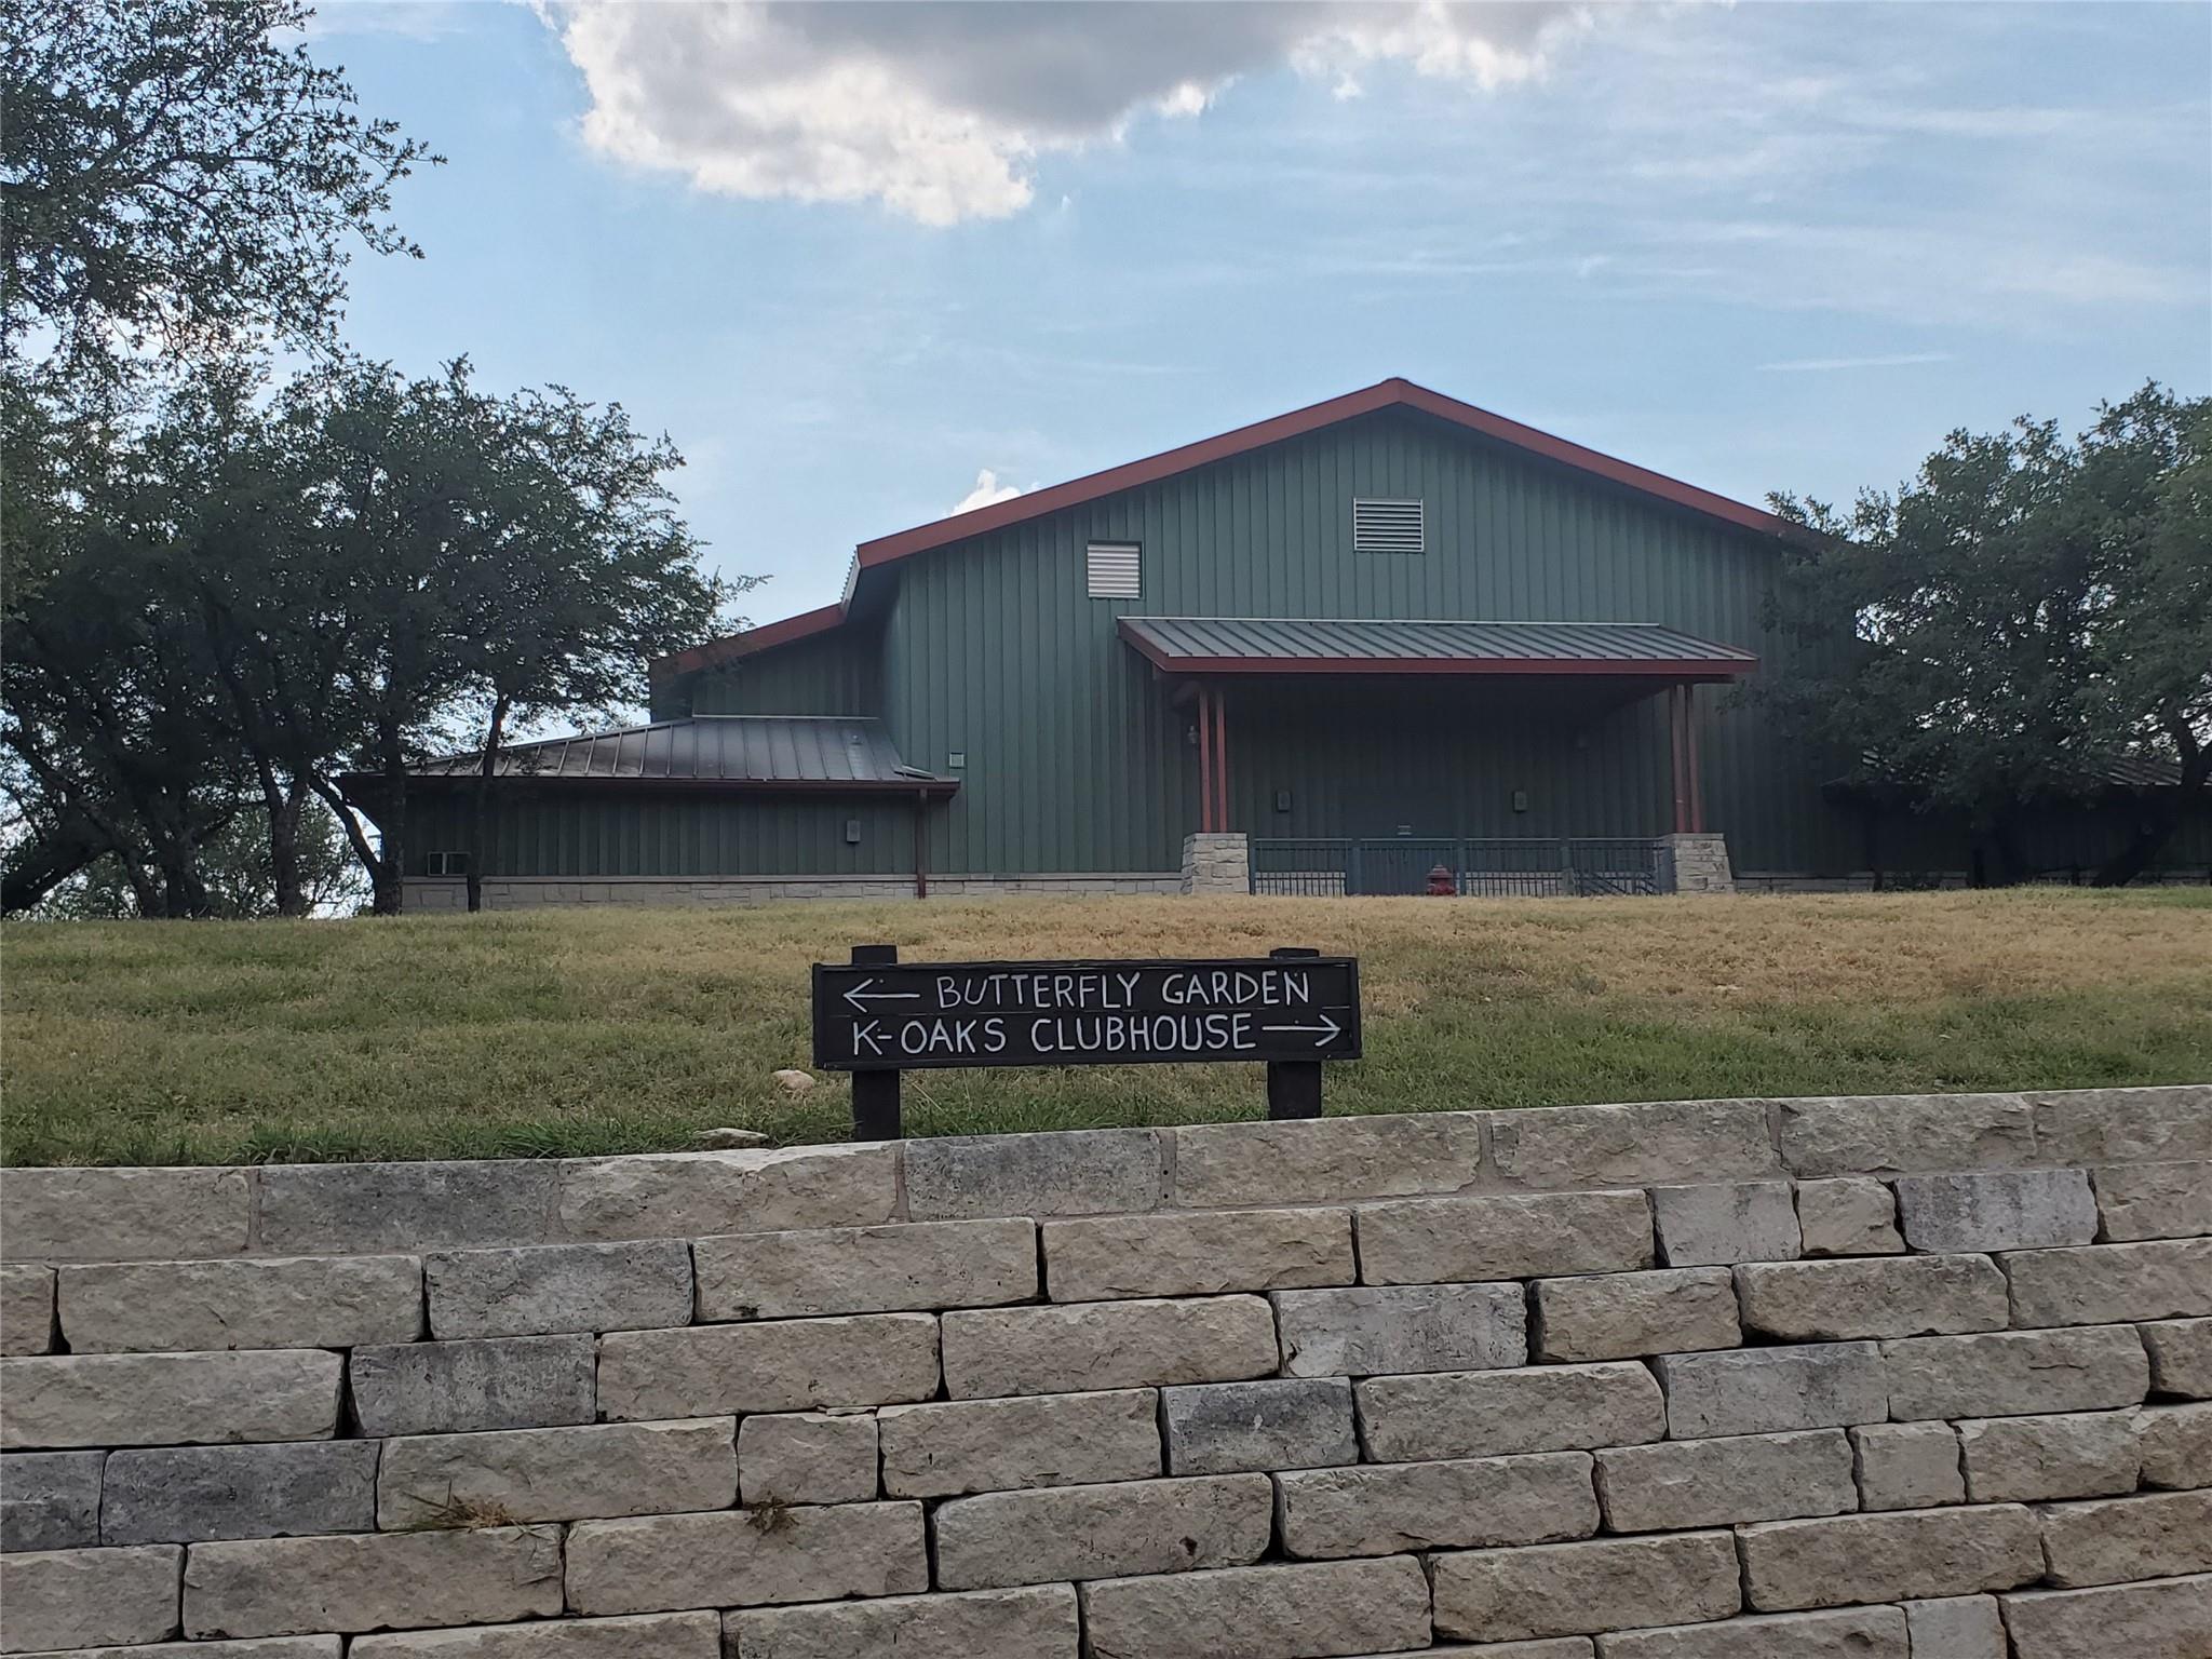
[[[206, 1164], [843, 1139], [807, 964], [1360, 956], [1332, 1113], [2212, 1079], [2212, 891], [1068, 898], [11, 925], [0, 1159]], [[1256, 1117], [1259, 1066], [907, 1075], [914, 1135]]]

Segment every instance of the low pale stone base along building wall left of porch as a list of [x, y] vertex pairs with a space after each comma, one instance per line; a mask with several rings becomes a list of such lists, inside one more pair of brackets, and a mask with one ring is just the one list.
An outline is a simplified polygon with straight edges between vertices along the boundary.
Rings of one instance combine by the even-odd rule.
[[[1152, 872], [1064, 872], [1042, 876], [931, 876], [933, 898], [1015, 894], [1177, 894], [1181, 878]], [[914, 876], [487, 876], [484, 909], [546, 905], [779, 905], [794, 898], [914, 898]], [[469, 885], [409, 876], [411, 911], [467, 909]]]

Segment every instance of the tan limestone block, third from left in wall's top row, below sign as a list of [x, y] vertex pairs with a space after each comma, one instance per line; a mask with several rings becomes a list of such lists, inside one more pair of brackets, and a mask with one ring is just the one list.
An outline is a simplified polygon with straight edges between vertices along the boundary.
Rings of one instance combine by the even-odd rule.
[[597, 1241], [874, 1228], [896, 1206], [898, 1148], [889, 1144], [577, 1159], [560, 1179], [562, 1228]]

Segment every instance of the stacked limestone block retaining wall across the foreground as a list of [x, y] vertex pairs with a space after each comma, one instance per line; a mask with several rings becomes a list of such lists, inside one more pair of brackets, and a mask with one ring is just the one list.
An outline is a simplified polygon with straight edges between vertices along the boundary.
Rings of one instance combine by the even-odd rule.
[[2212, 1088], [7, 1170], [0, 1254], [11, 1655], [2212, 1655]]

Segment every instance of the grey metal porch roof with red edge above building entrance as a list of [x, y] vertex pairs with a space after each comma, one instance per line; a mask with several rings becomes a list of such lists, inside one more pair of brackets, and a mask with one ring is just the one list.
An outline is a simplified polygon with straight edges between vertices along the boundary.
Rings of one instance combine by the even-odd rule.
[[1657, 622], [1121, 617], [1181, 675], [1663, 675], [1734, 679], [1759, 657]]

